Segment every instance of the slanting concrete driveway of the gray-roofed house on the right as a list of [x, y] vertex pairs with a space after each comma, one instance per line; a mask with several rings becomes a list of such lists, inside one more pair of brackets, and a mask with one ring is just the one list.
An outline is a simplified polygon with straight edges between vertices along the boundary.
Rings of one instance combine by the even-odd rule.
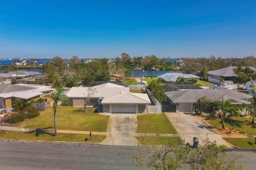
[[225, 144], [228, 148], [232, 148], [226, 140], [212, 132], [195, 114], [167, 112], [165, 114], [180, 137], [185, 139], [185, 142], [193, 144], [193, 137], [198, 137], [199, 143], [202, 144], [202, 140], [205, 139], [205, 135], [208, 134], [210, 141], [216, 140], [217, 144]]

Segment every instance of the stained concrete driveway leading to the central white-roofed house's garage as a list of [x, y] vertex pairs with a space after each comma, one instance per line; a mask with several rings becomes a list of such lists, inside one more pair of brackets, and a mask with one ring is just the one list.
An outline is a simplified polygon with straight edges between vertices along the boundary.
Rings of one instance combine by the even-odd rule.
[[112, 113], [108, 120], [107, 137], [100, 144], [137, 146], [137, 114]]

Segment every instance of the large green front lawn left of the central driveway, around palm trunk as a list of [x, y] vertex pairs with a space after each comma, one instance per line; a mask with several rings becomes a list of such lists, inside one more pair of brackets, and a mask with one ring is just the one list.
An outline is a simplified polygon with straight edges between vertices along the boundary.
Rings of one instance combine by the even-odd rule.
[[[94, 107], [86, 107], [88, 113], [80, 111], [81, 108], [72, 106], [57, 107], [57, 129], [62, 130], [85, 130], [106, 132], [109, 116], [94, 113]], [[52, 107], [22, 124], [22, 128], [52, 128], [54, 129], [54, 117]], [[65, 117], [66, 113], [66, 117]]]

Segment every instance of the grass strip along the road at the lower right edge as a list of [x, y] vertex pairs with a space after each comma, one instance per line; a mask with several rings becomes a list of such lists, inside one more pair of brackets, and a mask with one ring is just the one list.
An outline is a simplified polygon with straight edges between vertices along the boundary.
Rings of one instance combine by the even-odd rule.
[[238, 147], [256, 147], [255, 138], [223, 138]]

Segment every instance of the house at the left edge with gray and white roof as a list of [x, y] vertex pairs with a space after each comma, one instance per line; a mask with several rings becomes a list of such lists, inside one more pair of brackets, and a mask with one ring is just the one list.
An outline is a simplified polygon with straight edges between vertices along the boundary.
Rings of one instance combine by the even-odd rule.
[[0, 107], [13, 108], [14, 101], [30, 101], [53, 93], [51, 86], [28, 84], [0, 84]]

